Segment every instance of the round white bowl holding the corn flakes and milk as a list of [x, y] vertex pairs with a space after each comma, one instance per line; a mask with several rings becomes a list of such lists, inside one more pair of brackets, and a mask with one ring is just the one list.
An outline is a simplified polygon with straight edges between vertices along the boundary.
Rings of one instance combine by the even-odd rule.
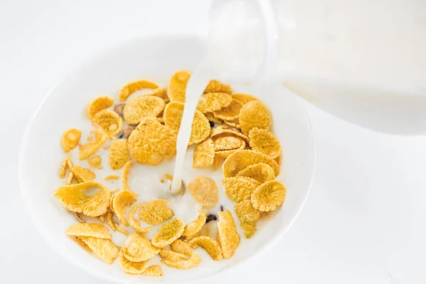
[[[116, 263], [108, 266], [78, 249], [65, 236], [64, 229], [75, 220], [53, 197], [55, 188], [63, 184], [58, 177], [64, 158], [60, 148], [62, 132], [70, 127], [80, 128], [84, 107], [99, 95], [116, 96], [124, 84], [141, 78], [167, 84], [176, 70], [194, 70], [204, 48], [203, 38], [164, 35], [141, 38], [109, 50], [57, 84], [29, 122], [19, 157], [23, 199], [31, 219], [48, 244], [84, 271], [117, 283], [200, 280], [218, 275], [219, 271], [251, 257], [261, 257], [259, 253], [280, 241], [300, 213], [310, 189], [315, 154], [310, 124], [299, 99], [279, 84], [260, 89], [234, 87], [233, 84], [237, 92], [260, 97], [271, 110], [273, 130], [283, 146], [283, 165], [278, 180], [288, 191], [275, 217], [268, 219], [252, 239], [241, 243], [231, 260], [205, 261], [204, 266], [190, 271], [165, 271], [163, 278], [132, 276], [122, 273]], [[88, 131], [89, 124], [85, 122], [85, 125], [86, 129], [82, 130]]]

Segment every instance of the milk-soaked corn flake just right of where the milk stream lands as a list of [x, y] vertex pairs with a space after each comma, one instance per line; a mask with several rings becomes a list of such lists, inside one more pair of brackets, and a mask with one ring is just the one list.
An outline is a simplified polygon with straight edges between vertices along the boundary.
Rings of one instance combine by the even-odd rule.
[[219, 201], [219, 190], [212, 178], [197, 177], [188, 183], [188, 189], [203, 209], [212, 209]]

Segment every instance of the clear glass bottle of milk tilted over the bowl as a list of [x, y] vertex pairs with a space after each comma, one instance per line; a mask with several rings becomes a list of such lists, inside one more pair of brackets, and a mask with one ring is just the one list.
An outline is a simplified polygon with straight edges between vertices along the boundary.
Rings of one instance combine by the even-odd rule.
[[208, 46], [224, 80], [279, 80], [354, 124], [426, 133], [426, 1], [214, 0]]

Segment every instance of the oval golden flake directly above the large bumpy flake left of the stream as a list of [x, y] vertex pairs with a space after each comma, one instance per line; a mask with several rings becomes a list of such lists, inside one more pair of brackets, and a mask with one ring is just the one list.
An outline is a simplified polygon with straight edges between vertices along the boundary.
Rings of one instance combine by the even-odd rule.
[[136, 125], [146, 117], [156, 117], [165, 107], [164, 100], [154, 96], [139, 96], [124, 106], [123, 117], [126, 123]]

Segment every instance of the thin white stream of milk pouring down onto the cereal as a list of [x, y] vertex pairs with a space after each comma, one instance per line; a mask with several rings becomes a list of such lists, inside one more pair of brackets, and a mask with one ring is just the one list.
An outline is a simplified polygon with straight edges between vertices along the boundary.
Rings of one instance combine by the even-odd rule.
[[192, 131], [192, 120], [197, 109], [198, 100], [209, 83], [209, 72], [203, 67], [197, 69], [190, 77], [186, 88], [185, 108], [183, 110], [182, 122], [176, 143], [175, 170], [171, 192], [177, 194], [182, 190], [182, 174], [184, 170], [185, 154], [190, 142]]

